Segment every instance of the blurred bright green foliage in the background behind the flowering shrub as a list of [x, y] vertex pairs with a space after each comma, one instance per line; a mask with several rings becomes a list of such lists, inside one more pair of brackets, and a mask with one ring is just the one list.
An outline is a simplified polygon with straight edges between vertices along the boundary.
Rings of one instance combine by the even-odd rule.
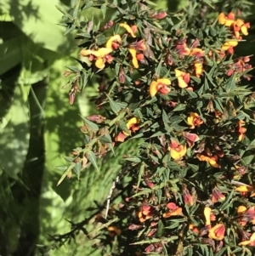
[[[89, 97], [97, 90], [92, 84], [70, 105], [68, 92], [62, 89], [66, 82], [65, 65], [77, 65], [74, 58], [78, 50], [71, 34], [65, 36], [65, 27], [59, 25], [61, 13], [55, 5], [65, 9], [70, 2], [5, 0], [0, 6], [0, 255], [3, 256], [98, 255], [79, 230], [76, 242], [71, 241], [66, 247], [51, 251], [46, 245], [54, 247], [48, 241], [50, 235], [69, 232], [72, 223], [83, 221], [89, 230], [96, 214], [105, 207], [122, 156], [132, 147], [130, 143], [122, 145], [116, 156], [101, 160], [99, 173], [88, 168], [80, 180], [65, 179], [57, 186], [65, 171], [64, 156], [82, 145], [79, 114], [86, 117], [95, 113]], [[193, 2], [158, 0], [156, 8], [170, 12], [185, 9], [193, 19], [189, 9]], [[216, 2], [229, 4], [219, 4], [219, 9], [231, 9], [231, 1], [213, 1]], [[255, 24], [255, 7], [252, 9], [249, 20]], [[102, 18], [98, 9], [93, 12], [89, 9], [84, 14], [88, 19], [92, 16], [96, 20]], [[240, 55], [254, 54], [254, 28], [252, 31], [249, 43], [241, 44]]]

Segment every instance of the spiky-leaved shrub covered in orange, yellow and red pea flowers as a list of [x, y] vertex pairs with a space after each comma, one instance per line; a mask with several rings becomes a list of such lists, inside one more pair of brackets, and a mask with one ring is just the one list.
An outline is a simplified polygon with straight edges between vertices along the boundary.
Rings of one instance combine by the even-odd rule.
[[[235, 56], [250, 24], [241, 12], [220, 13], [201, 31], [146, 0], [73, 4], [64, 21], [82, 42], [70, 102], [95, 78], [101, 112], [83, 117], [86, 143], [66, 158], [59, 183], [89, 163], [98, 168], [97, 158], [127, 140], [137, 145], [124, 157], [122, 203], [96, 219], [102, 253], [252, 255], [252, 66]], [[71, 20], [92, 6], [111, 18]]]

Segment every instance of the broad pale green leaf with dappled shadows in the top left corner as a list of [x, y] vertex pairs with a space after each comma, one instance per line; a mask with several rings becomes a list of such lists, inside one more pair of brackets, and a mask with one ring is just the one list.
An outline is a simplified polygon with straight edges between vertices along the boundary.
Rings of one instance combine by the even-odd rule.
[[[15, 8], [16, 4], [23, 9], [20, 11], [19, 8]], [[19, 0], [19, 3], [6, 0], [1, 3], [1, 8], [14, 17], [14, 24], [19, 26], [27, 37], [31, 37], [34, 43], [63, 54], [63, 50], [69, 46], [63, 41], [65, 28], [58, 26], [61, 13], [55, 8], [56, 5], [61, 8], [58, 0]]]

